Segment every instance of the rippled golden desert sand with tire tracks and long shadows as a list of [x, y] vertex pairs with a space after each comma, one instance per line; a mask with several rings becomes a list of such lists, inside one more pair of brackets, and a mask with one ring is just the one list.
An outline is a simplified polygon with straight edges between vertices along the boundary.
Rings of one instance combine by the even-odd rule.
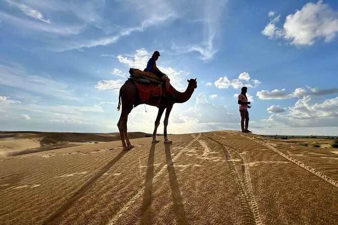
[[117, 133], [2, 132], [0, 223], [338, 223], [334, 148], [230, 130], [145, 135], [122, 151]]

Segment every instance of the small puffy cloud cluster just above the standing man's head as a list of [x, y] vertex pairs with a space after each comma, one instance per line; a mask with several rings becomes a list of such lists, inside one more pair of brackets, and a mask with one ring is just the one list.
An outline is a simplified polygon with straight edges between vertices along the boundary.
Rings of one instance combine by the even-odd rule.
[[[243, 82], [247, 82], [243, 84]], [[241, 73], [238, 76], [238, 79], [229, 80], [227, 77], [220, 77], [217, 81], [215, 81], [215, 86], [219, 89], [228, 88], [229, 86], [234, 89], [238, 89], [239, 87], [247, 86], [247, 87], [256, 87], [261, 82], [259, 80], [251, 80], [250, 75], [247, 72]], [[253, 85], [252, 85], [253, 84]]]

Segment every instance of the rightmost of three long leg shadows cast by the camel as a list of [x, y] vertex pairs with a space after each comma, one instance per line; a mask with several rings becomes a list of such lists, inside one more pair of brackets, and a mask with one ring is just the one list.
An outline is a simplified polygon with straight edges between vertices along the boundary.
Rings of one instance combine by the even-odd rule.
[[167, 160], [167, 170], [169, 174], [170, 188], [171, 188], [172, 197], [174, 201], [176, 221], [177, 221], [177, 224], [188, 224], [187, 219], [186, 219], [186, 213], [183, 207], [181, 191], [179, 190], [179, 186], [177, 182], [174, 164], [171, 159], [170, 145], [171, 144], [166, 144], [166, 160]]

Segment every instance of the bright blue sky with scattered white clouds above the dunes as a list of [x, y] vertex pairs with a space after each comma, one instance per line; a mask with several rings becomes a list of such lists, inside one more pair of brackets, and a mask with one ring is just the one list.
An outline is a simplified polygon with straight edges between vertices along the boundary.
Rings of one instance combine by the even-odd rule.
[[[248, 87], [257, 134], [337, 135], [337, 1], [0, 2], [0, 130], [117, 132], [129, 68], [157, 66], [184, 91], [168, 133], [239, 130]], [[128, 130], [152, 133], [139, 105]], [[163, 131], [163, 119], [158, 129]]]

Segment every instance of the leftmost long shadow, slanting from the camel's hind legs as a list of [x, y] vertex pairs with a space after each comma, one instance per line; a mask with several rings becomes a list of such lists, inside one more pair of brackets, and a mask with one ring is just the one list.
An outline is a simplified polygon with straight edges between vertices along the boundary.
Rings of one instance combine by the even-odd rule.
[[94, 177], [92, 177], [87, 183], [85, 183], [75, 194], [70, 197], [58, 210], [56, 210], [49, 218], [47, 218], [43, 224], [57, 224], [61, 219], [62, 215], [67, 212], [67, 210], [72, 207], [72, 205], [81, 198], [87, 190], [104, 175], [123, 155], [129, 151], [121, 151], [114, 159], [112, 159], [108, 164], [106, 164], [101, 171], [99, 171]]

